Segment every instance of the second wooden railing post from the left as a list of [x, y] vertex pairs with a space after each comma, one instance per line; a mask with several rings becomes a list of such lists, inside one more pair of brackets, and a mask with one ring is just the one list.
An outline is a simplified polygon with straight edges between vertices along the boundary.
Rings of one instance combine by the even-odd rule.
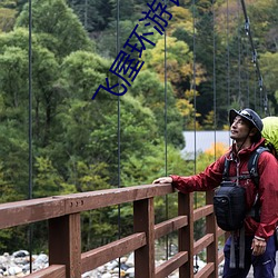
[[147, 245], [135, 251], [135, 277], [155, 278], [153, 198], [133, 202], [135, 232], [146, 232]]

